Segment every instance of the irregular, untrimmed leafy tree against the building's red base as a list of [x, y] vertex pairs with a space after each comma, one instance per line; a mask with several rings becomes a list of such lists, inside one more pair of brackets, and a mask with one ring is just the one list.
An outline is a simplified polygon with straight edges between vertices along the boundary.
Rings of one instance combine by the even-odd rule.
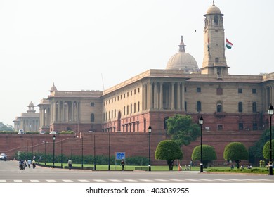
[[200, 136], [200, 127], [193, 124], [190, 115], [174, 115], [167, 119], [167, 134], [176, 141], [179, 146], [188, 145]]

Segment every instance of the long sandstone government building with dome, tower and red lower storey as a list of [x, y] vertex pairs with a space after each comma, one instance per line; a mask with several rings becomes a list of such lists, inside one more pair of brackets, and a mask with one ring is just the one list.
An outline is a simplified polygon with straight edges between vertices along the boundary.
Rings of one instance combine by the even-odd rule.
[[183, 37], [181, 41], [178, 37], [178, 53], [167, 60], [165, 69], [146, 70], [105, 91], [62, 91], [53, 84], [48, 98], [37, 103], [39, 113], [30, 103], [29, 113], [16, 117], [15, 130], [71, 129], [126, 135], [146, 133], [151, 125], [154, 133], [166, 136], [168, 117], [191, 115], [197, 122], [202, 115], [202, 129], [211, 135], [205, 139], [207, 144], [218, 149], [223, 144], [221, 138], [233, 141], [241, 136], [237, 141], [251, 146], [258, 140], [254, 134], [259, 136], [269, 127], [267, 110], [274, 103], [274, 72], [229, 74], [223, 16], [214, 3], [204, 14], [201, 68], [186, 53]]

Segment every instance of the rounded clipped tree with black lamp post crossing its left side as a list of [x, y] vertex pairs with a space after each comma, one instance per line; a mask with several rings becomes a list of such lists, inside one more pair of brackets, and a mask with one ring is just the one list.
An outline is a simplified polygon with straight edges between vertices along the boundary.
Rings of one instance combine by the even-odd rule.
[[[192, 160], [201, 160], [201, 146], [196, 146], [193, 149], [193, 154], [191, 155]], [[212, 146], [202, 145], [202, 162], [204, 167], [207, 167], [208, 163], [216, 160], [216, 151]]]

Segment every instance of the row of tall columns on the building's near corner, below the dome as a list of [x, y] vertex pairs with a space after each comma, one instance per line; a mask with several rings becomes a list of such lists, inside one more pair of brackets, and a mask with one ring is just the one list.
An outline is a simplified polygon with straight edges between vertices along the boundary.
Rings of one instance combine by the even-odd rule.
[[143, 84], [143, 110], [185, 111], [184, 82], [148, 82]]

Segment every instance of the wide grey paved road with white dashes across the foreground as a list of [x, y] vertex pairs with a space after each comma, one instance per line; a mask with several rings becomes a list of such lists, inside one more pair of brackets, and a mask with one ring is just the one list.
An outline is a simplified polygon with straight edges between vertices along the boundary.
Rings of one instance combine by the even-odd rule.
[[274, 183], [274, 176], [264, 174], [200, 174], [197, 171], [122, 172], [46, 167], [19, 170], [17, 161], [1, 161], [0, 174], [0, 183]]

